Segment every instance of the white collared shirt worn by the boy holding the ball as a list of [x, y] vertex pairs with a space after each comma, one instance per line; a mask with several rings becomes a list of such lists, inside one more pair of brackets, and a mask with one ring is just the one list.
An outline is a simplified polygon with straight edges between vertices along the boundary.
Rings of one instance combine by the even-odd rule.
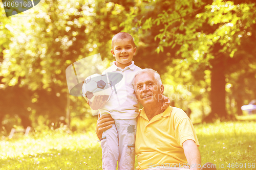
[[[136, 99], [133, 87], [133, 78], [141, 68], [134, 65], [134, 61], [124, 69], [116, 66], [116, 61], [108, 69], [102, 72], [119, 72], [123, 75], [122, 80], [115, 85], [116, 92], [113, 89], [112, 96], [103, 108], [99, 109], [100, 114], [110, 113], [114, 119], [132, 119], [139, 114], [139, 102]], [[113, 87], [112, 87], [113, 88]]]

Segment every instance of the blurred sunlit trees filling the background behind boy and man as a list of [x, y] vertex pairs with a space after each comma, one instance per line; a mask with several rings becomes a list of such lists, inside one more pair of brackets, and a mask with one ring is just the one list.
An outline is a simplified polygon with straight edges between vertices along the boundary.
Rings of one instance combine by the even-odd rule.
[[67, 123], [67, 113], [92, 117], [84, 99], [68, 94], [65, 70], [97, 53], [111, 64], [111, 38], [120, 31], [135, 39], [135, 64], [157, 70], [166, 95], [195, 122], [242, 115], [255, 99], [254, 1], [42, 0], [11, 17], [1, 10], [4, 126], [15, 116], [24, 127], [38, 118]]

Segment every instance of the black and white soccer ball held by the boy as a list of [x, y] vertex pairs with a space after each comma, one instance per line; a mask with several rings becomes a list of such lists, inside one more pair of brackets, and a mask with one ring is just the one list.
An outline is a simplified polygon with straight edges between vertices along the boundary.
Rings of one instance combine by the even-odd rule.
[[87, 101], [93, 102], [97, 95], [102, 95], [103, 101], [108, 101], [111, 94], [112, 88], [107, 75], [94, 74], [83, 82], [82, 95]]

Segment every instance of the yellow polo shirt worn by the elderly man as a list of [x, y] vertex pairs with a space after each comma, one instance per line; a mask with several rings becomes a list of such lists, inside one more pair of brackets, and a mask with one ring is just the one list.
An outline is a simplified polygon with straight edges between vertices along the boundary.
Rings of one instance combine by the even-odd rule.
[[149, 121], [143, 108], [138, 116], [135, 141], [137, 169], [187, 163], [182, 143], [188, 139], [199, 147], [193, 124], [182, 109], [169, 106]]

